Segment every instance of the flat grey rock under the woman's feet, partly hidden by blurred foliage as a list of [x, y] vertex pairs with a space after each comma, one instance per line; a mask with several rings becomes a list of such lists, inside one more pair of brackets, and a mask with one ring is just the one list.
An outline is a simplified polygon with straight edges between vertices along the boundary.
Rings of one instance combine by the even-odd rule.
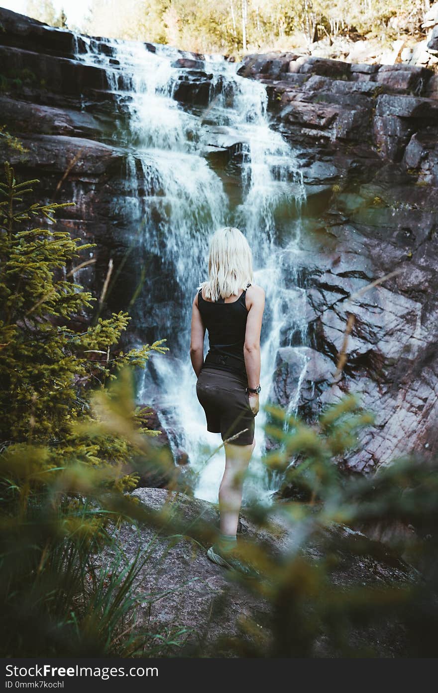
[[[217, 526], [217, 511], [206, 501], [165, 489], [137, 489], [132, 495], [154, 510], [170, 503], [188, 527], [194, 527], [199, 518], [206, 525]], [[273, 525], [272, 532], [258, 529], [244, 511], [241, 525], [246, 530], [245, 538], [262, 543], [268, 552], [281, 553], [288, 545], [288, 534], [282, 525]], [[332, 561], [330, 571], [332, 583], [339, 588], [397, 586], [412, 578], [411, 569], [378, 542], [347, 527], [330, 531], [339, 539], [338, 560]], [[156, 633], [163, 629], [188, 630], [185, 644], [175, 651], [177, 656], [241, 656], [245, 647], [247, 652], [253, 648], [253, 653], [258, 648], [258, 656], [270, 656], [271, 648], [278, 647], [273, 642], [275, 626], [268, 601], [256, 590], [246, 590], [238, 584], [226, 569], [211, 563], [206, 557], [206, 546], [187, 537], [157, 538], [152, 529], [137, 529], [134, 525], [122, 527], [118, 540], [127, 562], [134, 559], [139, 548], [147, 555], [137, 588], [139, 593], [151, 595], [152, 606], [149, 614], [149, 601], [145, 602], [143, 611], [138, 613], [138, 626], [148, 625]], [[356, 547], [361, 543], [361, 549], [352, 552], [352, 541]], [[324, 555], [318, 540], [310, 541], [304, 550], [305, 558], [311, 562]], [[250, 623], [256, 624], [255, 629], [249, 627]], [[403, 629], [396, 622], [377, 622], [372, 629], [353, 629], [350, 642], [357, 648], [375, 649], [377, 656], [393, 657], [403, 654], [403, 640]], [[273, 656], [280, 655], [274, 652]], [[336, 645], [322, 634], [313, 643], [312, 656], [336, 656]]]

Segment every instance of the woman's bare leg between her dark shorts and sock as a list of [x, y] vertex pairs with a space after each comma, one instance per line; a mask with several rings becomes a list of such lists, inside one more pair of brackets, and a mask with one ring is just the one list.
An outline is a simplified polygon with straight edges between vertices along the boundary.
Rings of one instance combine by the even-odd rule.
[[221, 534], [235, 536], [239, 523], [244, 474], [255, 448], [250, 445], [225, 444], [225, 471], [219, 487], [219, 529]]

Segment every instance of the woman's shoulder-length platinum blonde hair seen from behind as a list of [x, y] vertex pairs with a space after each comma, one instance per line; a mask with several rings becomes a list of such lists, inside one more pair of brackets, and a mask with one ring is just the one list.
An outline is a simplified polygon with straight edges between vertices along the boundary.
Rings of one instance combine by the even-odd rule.
[[227, 226], [213, 234], [208, 252], [208, 278], [198, 289], [205, 287], [210, 301], [237, 295], [248, 283], [254, 283], [253, 254], [239, 229]]

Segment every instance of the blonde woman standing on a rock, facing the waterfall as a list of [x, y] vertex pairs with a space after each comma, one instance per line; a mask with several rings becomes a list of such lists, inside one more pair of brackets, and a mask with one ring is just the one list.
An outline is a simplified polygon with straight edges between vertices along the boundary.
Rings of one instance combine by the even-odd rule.
[[[207, 430], [220, 433], [225, 472], [219, 487], [219, 541], [207, 552], [218, 565], [251, 572], [237, 558], [243, 479], [255, 447], [259, 411], [260, 331], [264, 290], [253, 283], [253, 258], [239, 229], [217, 231], [210, 242], [208, 281], [192, 305], [190, 358]], [[210, 349], [203, 359], [204, 335]]]

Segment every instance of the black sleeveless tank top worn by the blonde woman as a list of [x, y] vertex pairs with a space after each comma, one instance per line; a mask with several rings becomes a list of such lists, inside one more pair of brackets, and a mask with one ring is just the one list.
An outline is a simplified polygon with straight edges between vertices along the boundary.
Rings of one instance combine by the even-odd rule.
[[[250, 286], [246, 286], [246, 289]], [[225, 303], [206, 301], [202, 289], [198, 292], [198, 308], [206, 330], [208, 330], [209, 350], [204, 361], [205, 367], [239, 374], [246, 379], [244, 342], [246, 332], [246, 289], [237, 301]]]

